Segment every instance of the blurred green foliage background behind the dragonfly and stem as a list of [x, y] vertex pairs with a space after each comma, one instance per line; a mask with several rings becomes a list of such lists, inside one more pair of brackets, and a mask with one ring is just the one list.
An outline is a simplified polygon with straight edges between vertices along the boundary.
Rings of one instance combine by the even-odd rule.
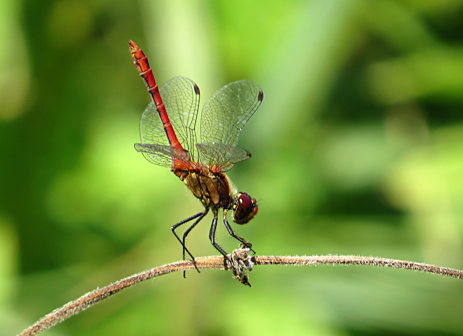
[[[0, 0], [0, 335], [181, 259], [201, 210], [133, 148], [157, 82], [264, 100], [230, 172], [260, 202], [258, 254], [360, 254], [463, 268], [462, 0]], [[217, 254], [211, 216], [189, 236]], [[218, 239], [237, 247], [223, 227]], [[367, 266], [180, 273], [44, 335], [462, 335], [463, 283]]]

